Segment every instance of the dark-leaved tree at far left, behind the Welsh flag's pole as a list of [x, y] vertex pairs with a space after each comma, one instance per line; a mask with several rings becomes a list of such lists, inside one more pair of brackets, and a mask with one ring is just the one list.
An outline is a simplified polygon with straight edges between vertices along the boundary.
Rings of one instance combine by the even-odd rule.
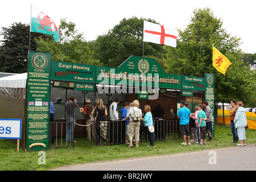
[[[2, 27], [3, 45], [0, 47], [0, 71], [10, 73], [27, 72], [27, 53], [30, 48], [30, 25], [13, 23]], [[31, 33], [31, 51], [36, 51], [35, 38], [39, 33]], [[48, 37], [44, 35], [42, 39]]]

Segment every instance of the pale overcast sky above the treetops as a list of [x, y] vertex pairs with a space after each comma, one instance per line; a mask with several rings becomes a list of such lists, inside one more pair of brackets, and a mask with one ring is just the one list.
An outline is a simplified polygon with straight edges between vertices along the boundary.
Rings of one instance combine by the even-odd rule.
[[189, 24], [193, 10], [210, 7], [214, 16], [221, 18], [222, 27], [242, 39], [244, 52], [256, 52], [256, 2], [253, 0], [8, 0], [0, 3], [0, 27], [9, 27], [14, 22], [29, 24], [31, 4], [51, 17], [58, 27], [61, 18], [76, 23], [86, 41], [107, 34], [123, 18], [132, 16], [183, 29]]

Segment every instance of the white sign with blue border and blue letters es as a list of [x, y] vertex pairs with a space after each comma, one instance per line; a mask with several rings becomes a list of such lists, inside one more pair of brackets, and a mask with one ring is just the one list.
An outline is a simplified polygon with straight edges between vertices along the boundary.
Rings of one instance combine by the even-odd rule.
[[22, 119], [0, 119], [0, 139], [21, 139]]

